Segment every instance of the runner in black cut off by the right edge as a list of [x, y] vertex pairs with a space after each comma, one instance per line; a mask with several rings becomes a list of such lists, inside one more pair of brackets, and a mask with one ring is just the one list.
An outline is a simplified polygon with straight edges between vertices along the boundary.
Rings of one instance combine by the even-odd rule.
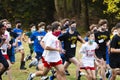
[[110, 44], [110, 67], [112, 68], [112, 77], [110, 80], [116, 80], [120, 74], [120, 23], [116, 24], [118, 34], [116, 34]]

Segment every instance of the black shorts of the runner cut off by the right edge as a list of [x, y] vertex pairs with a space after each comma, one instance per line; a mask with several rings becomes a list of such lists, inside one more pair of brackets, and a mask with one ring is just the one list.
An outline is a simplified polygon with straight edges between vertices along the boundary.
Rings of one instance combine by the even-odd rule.
[[110, 67], [120, 68], [120, 54], [110, 54]]

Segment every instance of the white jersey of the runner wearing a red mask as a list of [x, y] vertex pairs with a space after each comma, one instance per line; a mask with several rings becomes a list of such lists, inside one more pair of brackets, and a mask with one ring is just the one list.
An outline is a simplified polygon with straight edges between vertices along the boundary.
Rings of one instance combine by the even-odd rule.
[[[45, 46], [49, 46], [52, 48], [58, 48], [58, 47], [60, 47], [60, 42], [59, 42], [58, 38], [52, 34], [47, 37]], [[59, 60], [61, 60], [59, 52], [51, 51], [51, 50], [46, 50], [44, 58], [47, 62], [58, 62]]]

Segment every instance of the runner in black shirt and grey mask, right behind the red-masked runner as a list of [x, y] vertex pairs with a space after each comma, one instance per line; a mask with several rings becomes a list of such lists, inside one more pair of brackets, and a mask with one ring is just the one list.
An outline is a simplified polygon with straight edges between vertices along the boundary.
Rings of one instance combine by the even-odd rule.
[[76, 80], [78, 78], [80, 64], [75, 57], [77, 40], [85, 43], [84, 39], [81, 38], [78, 31], [76, 31], [76, 22], [74, 20], [70, 21], [69, 30], [58, 37], [60, 41], [64, 42], [65, 57], [66, 61], [64, 63], [64, 68], [67, 70], [68, 66], [73, 63], [76, 66]]

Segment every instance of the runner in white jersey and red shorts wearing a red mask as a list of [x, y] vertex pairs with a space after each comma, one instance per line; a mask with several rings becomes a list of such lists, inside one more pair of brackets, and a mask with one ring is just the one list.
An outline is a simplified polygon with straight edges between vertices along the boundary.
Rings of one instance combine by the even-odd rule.
[[52, 33], [50, 33], [49, 36], [46, 35], [47, 40], [45, 40], [45, 44], [43, 46], [46, 52], [43, 53], [45, 55], [43, 55], [42, 57], [42, 62], [44, 65], [43, 71], [37, 71], [35, 73], [30, 74], [27, 80], [33, 80], [35, 76], [46, 75], [51, 67], [55, 67], [57, 71], [57, 80], [66, 80], [64, 67], [62, 65], [62, 60], [59, 54], [59, 52], [61, 52], [61, 47], [59, 44], [60, 42], [57, 39], [56, 35], [54, 35], [54, 33], [58, 32], [58, 30], [59, 25], [54, 25], [52, 26]]

